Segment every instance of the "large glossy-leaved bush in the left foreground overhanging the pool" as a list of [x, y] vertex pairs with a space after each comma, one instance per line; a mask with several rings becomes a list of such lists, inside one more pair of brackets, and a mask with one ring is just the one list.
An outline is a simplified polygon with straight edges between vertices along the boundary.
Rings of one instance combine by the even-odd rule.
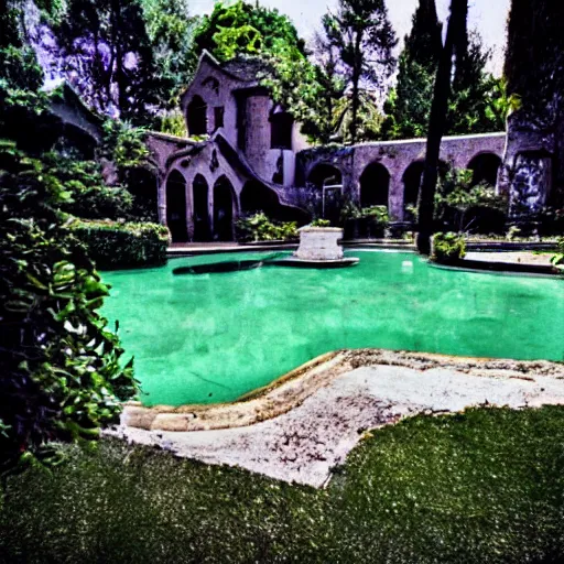
[[96, 437], [135, 393], [98, 313], [108, 288], [64, 226], [68, 197], [43, 162], [0, 143], [0, 468]]

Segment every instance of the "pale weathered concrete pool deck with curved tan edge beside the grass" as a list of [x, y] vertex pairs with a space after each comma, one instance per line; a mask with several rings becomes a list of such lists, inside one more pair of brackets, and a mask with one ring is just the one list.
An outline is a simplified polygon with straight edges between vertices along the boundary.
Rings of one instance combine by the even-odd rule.
[[145, 429], [129, 426], [143, 423], [143, 410], [131, 405], [108, 433], [181, 457], [323, 487], [369, 430], [471, 405], [543, 404], [564, 404], [562, 364], [364, 349], [324, 356], [241, 402], [160, 413], [207, 430], [159, 430], [147, 410]]

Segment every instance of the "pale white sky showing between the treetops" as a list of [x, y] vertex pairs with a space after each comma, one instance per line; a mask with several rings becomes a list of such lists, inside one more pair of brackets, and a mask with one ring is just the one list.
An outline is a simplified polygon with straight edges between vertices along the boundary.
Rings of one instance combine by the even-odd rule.
[[[254, 0], [251, 0], [254, 1]], [[334, 8], [336, 0], [259, 0], [261, 6], [276, 8], [294, 22], [300, 34], [308, 39], [318, 28], [321, 17], [327, 8]], [[189, 0], [193, 14], [209, 13], [215, 0]], [[409, 33], [411, 17], [419, 0], [387, 0], [390, 21], [400, 37]], [[506, 22], [510, 0], [469, 0], [468, 22], [470, 29], [476, 29], [484, 39], [487, 47], [494, 51], [489, 69], [500, 74], [503, 66], [503, 48], [506, 44]], [[436, 0], [438, 18], [446, 21], [451, 0]], [[401, 47], [401, 45], [400, 45]]]

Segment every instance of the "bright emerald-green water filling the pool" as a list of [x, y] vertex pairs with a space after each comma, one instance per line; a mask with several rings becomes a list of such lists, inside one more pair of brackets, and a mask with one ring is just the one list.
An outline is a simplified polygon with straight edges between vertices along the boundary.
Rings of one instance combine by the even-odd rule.
[[408, 252], [346, 254], [360, 263], [173, 275], [234, 258], [218, 254], [105, 273], [104, 314], [120, 322], [143, 403], [235, 400], [339, 348], [564, 359], [562, 280], [438, 269]]

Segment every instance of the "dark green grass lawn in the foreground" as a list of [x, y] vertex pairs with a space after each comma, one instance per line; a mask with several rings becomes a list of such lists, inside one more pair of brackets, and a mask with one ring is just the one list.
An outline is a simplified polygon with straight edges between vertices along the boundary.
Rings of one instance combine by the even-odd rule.
[[8, 480], [3, 562], [564, 561], [564, 408], [405, 420], [327, 490], [118, 441], [66, 449]]

